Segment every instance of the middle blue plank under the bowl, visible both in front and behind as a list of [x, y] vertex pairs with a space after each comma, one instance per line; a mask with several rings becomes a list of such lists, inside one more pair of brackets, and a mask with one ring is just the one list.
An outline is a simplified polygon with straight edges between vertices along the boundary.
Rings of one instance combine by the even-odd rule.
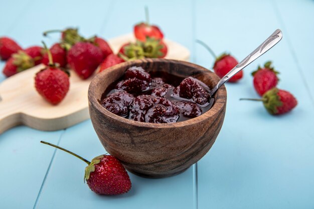
[[[162, 12], [159, 2], [115, 2], [101, 35], [109, 39], [131, 32], [133, 24], [144, 18], [145, 4], [149, 7], [151, 22], [162, 27], [166, 38], [174, 39], [188, 48], [192, 46], [192, 1], [169, 2], [168, 7], [163, 7]], [[178, 5], [180, 10], [176, 13], [175, 20], [171, 8]], [[179, 34], [178, 28], [174, 29], [175, 23], [178, 24], [178, 28], [184, 27], [186, 30], [184, 36]], [[68, 128], [60, 144], [87, 158], [104, 153], [89, 120]], [[61, 171], [68, 169], [69, 165], [72, 171], [62, 173]], [[80, 160], [57, 151], [36, 207], [45, 209], [67, 206], [103, 208], [104, 205], [111, 208], [193, 207], [192, 168], [180, 175], [164, 179], [146, 179], [130, 174], [133, 185], [131, 191], [121, 196], [107, 197], [94, 194], [87, 185], [84, 185], [82, 181], [84, 166]]]

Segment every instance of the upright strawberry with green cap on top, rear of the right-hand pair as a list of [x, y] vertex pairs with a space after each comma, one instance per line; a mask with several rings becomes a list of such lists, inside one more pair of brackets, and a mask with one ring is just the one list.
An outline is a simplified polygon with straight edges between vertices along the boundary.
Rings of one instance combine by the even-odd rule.
[[271, 61], [268, 61], [264, 64], [264, 68], [258, 66], [257, 70], [252, 73], [253, 85], [259, 96], [276, 87], [278, 83], [278, 72], [271, 67]]

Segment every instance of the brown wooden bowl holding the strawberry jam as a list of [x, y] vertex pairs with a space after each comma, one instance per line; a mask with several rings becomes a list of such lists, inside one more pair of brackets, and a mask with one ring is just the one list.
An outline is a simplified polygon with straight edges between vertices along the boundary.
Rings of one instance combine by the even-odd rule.
[[131, 66], [146, 71], [166, 71], [193, 76], [212, 88], [219, 78], [209, 70], [184, 61], [144, 59], [115, 65], [96, 75], [88, 90], [89, 114], [94, 129], [106, 150], [127, 170], [144, 177], [176, 175], [201, 159], [212, 147], [226, 111], [227, 92], [222, 86], [206, 113], [190, 120], [154, 124], [117, 116], [99, 103], [102, 93]]

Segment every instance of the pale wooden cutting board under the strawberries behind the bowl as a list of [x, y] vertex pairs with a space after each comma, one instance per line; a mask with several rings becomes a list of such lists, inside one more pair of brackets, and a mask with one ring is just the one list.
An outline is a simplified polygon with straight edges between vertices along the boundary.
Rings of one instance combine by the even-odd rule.
[[[121, 45], [135, 41], [132, 34], [109, 40], [117, 53]], [[187, 48], [170, 40], [166, 58], [189, 60]], [[11, 127], [24, 124], [32, 128], [51, 131], [67, 128], [89, 118], [87, 92], [92, 79], [81, 80], [71, 72], [70, 90], [64, 100], [54, 106], [46, 102], [34, 87], [34, 76], [43, 68], [38, 65], [7, 78], [0, 84], [0, 134]]]

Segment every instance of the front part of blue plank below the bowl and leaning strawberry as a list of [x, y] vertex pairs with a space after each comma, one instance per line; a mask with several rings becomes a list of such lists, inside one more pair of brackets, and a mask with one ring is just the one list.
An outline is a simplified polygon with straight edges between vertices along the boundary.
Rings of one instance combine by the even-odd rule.
[[[90, 120], [68, 128], [60, 146], [87, 159], [106, 153]], [[129, 173], [131, 190], [119, 196], [92, 192], [83, 182], [86, 164], [57, 151], [36, 208], [191, 208], [192, 169], [170, 178], [147, 179]]]

